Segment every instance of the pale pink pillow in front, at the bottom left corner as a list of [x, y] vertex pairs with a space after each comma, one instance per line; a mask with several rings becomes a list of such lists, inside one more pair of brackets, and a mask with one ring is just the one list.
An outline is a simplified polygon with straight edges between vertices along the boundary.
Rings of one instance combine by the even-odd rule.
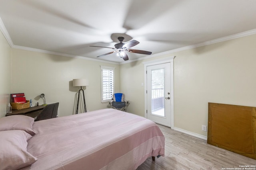
[[27, 152], [27, 141], [32, 136], [25, 131], [0, 131], [0, 170], [16, 170], [38, 160]]

